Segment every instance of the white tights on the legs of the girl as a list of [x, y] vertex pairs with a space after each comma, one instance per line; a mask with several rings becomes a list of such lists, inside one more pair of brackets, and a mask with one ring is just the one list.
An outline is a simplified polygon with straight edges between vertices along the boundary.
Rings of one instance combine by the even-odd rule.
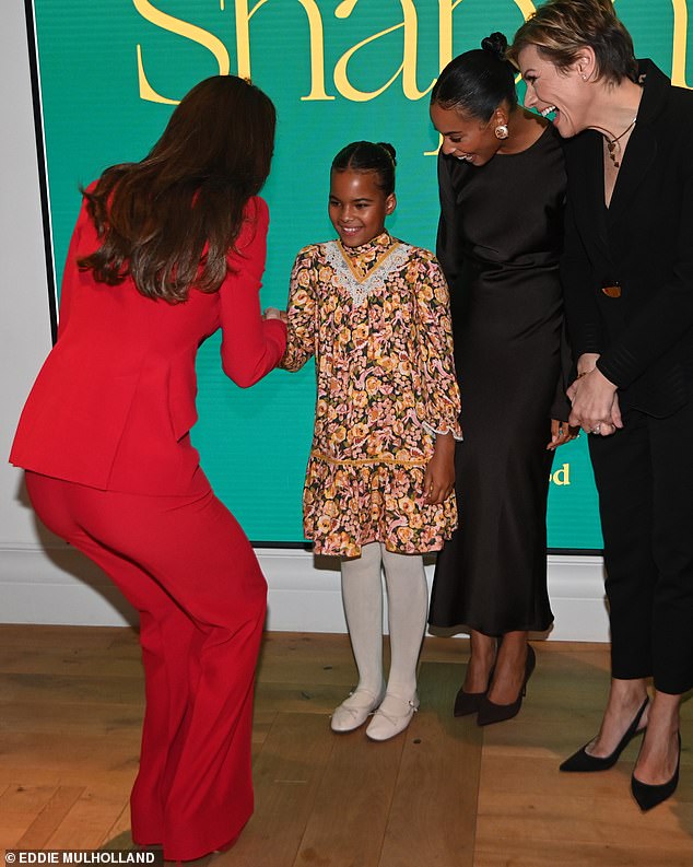
[[428, 587], [421, 554], [395, 554], [379, 542], [361, 556], [342, 560], [342, 599], [359, 669], [359, 689], [383, 689], [383, 581], [385, 569], [390, 629], [388, 693], [404, 701], [416, 692], [416, 663], [426, 626]]

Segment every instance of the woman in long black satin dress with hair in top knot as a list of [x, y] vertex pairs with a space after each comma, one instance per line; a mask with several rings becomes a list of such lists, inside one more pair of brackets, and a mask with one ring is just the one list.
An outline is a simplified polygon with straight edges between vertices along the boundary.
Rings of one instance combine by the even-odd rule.
[[547, 497], [553, 449], [572, 438], [562, 376], [559, 136], [517, 105], [507, 43], [455, 58], [431, 99], [443, 137], [437, 256], [450, 286], [465, 440], [460, 527], [438, 554], [430, 623], [465, 626], [471, 658], [455, 715], [519, 711], [535, 666], [528, 631], [553, 621]]

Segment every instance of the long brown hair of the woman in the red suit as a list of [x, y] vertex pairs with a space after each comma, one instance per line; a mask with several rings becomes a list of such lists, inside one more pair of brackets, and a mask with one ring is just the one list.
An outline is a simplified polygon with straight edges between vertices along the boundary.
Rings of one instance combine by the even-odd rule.
[[107, 168], [84, 192], [101, 247], [78, 260], [108, 285], [131, 277], [138, 291], [177, 304], [195, 285], [215, 292], [246, 202], [270, 171], [275, 112], [236, 75], [197, 84], [139, 163]]

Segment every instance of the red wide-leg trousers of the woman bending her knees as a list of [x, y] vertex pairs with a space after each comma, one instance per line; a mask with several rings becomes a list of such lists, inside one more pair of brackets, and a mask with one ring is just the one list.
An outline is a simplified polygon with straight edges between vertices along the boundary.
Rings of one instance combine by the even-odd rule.
[[209, 491], [145, 496], [26, 473], [46, 526], [140, 612], [146, 712], [132, 836], [188, 860], [252, 812], [250, 735], [267, 585], [240, 526]]

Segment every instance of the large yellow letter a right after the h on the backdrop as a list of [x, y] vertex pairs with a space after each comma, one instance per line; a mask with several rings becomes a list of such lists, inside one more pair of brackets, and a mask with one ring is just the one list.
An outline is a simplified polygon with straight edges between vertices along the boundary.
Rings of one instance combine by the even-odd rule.
[[[343, 2], [341, 2], [334, 10], [336, 16], [339, 19], [349, 17], [357, 2], [359, 0], [343, 0]], [[345, 51], [337, 61], [337, 66], [334, 67], [334, 84], [337, 85], [337, 90], [346, 99], [355, 103], [365, 103], [369, 99], [375, 99], [376, 96], [379, 96], [381, 93], [384, 93], [396, 81], [400, 73], [402, 75], [402, 91], [408, 99], [420, 99], [422, 96], [425, 96], [426, 93], [428, 93], [431, 87], [433, 87], [435, 79], [431, 82], [425, 91], [420, 91], [416, 82], [416, 50], [419, 35], [416, 7], [414, 5], [413, 0], [400, 0], [400, 5], [402, 7], [403, 19], [399, 24], [394, 24], [391, 27], [387, 27], [384, 31], [374, 33], [366, 39], [362, 39], [360, 43], [350, 48], [349, 51]], [[396, 70], [395, 74], [376, 91], [360, 91], [357, 87], [354, 87], [354, 85], [349, 80], [348, 72], [349, 61], [352, 59], [352, 57], [356, 54], [356, 51], [369, 43], [373, 43], [383, 36], [387, 36], [388, 33], [394, 33], [400, 28], [404, 30], [404, 49], [402, 62]]]

